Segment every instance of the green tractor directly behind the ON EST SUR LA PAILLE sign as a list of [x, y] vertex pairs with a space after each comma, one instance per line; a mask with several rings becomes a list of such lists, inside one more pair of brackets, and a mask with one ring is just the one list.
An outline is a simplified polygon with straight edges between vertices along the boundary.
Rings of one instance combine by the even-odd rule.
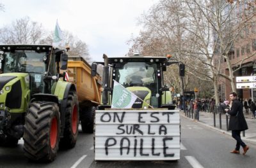
[[170, 90], [165, 87], [163, 80], [163, 71], [166, 71], [166, 62], [168, 62], [166, 57], [134, 55], [108, 58], [105, 55], [104, 59], [102, 106], [100, 108], [103, 106], [108, 108], [111, 104], [108, 94], [109, 91], [110, 95], [113, 94], [113, 80], [140, 97], [136, 99], [132, 108], [145, 109], [149, 108], [148, 104], [154, 108], [175, 108], [172, 104]]

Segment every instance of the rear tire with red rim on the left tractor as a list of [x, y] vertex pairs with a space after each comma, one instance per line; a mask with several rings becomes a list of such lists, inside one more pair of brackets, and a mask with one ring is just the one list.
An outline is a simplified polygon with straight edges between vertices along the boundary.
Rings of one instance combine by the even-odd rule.
[[79, 125], [78, 107], [77, 95], [74, 92], [69, 92], [65, 113], [64, 136], [60, 140], [61, 148], [73, 148], [76, 146]]

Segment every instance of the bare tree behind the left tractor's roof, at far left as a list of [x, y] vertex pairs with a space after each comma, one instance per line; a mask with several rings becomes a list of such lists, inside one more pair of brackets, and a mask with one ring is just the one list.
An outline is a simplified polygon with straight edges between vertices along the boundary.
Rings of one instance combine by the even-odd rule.
[[6, 44], [38, 44], [44, 34], [42, 24], [24, 17], [0, 29], [0, 41]]

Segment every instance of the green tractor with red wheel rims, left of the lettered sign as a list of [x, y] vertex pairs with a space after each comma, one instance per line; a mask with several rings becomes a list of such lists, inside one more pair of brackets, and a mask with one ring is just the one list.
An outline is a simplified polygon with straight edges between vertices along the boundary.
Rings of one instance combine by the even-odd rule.
[[76, 87], [60, 80], [67, 60], [51, 45], [0, 45], [0, 146], [23, 137], [26, 157], [51, 162], [76, 145]]

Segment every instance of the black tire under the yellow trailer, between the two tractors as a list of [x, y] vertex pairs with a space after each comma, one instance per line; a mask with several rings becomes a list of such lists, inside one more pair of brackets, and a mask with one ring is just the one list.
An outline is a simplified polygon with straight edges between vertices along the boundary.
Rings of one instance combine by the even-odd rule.
[[95, 110], [96, 110], [95, 106], [86, 107], [80, 113], [81, 127], [84, 133], [90, 133], [90, 134], [93, 133]]

